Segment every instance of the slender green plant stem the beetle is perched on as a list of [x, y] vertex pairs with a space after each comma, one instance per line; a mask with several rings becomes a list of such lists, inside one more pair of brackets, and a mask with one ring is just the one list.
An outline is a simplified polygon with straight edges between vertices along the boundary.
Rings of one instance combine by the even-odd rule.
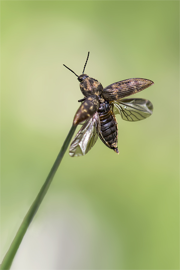
[[64, 156], [64, 153], [67, 150], [67, 147], [70, 143], [70, 140], [73, 137], [73, 134], [76, 130], [76, 126], [72, 125], [66, 140], [63, 143], [63, 146], [50, 170], [49, 175], [47, 176], [47, 179], [44, 183], [44, 185], [41, 187], [41, 190], [38, 193], [38, 196], [36, 197], [35, 201], [32, 203], [31, 207], [29, 208], [29, 211], [27, 212], [25, 218], [23, 219], [21, 226], [19, 227], [19, 230], [16, 233], [16, 236], [14, 237], [9, 250], [7, 251], [2, 263], [1, 263], [1, 269], [6, 270], [6, 269], [10, 269], [10, 266], [13, 262], [14, 256], [16, 255], [16, 252], [19, 248], [19, 245], [22, 241], [22, 238], [24, 237], [29, 224], [31, 223], [33, 217], [35, 216], [36, 212], [38, 211], [38, 208], [42, 202], [42, 200], [44, 199], [44, 196], [46, 195], [46, 192], [52, 182], [52, 179], [59, 167], [59, 164], [61, 163], [61, 160]]

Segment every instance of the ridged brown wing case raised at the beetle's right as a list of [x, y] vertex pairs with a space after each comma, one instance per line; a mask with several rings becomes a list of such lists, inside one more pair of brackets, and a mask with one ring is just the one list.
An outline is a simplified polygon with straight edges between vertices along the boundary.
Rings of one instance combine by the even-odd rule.
[[148, 79], [127, 79], [108, 85], [103, 89], [101, 96], [107, 101], [113, 101], [138, 93], [153, 84], [154, 82]]

